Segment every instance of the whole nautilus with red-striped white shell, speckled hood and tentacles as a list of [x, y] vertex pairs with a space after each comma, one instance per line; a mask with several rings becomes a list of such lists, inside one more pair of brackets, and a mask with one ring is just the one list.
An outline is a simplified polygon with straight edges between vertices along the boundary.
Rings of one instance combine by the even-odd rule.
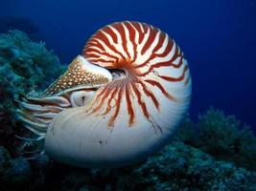
[[187, 61], [167, 33], [118, 22], [92, 35], [43, 94], [23, 97], [19, 114], [45, 138], [51, 158], [118, 167], [167, 143], [187, 112], [191, 84]]

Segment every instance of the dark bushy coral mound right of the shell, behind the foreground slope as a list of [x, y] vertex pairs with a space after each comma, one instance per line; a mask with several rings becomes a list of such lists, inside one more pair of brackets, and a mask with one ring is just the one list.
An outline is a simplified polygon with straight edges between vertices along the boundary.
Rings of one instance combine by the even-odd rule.
[[198, 117], [198, 124], [186, 118], [175, 135], [216, 159], [235, 162], [238, 166], [256, 170], [256, 138], [252, 130], [234, 116], [210, 108]]

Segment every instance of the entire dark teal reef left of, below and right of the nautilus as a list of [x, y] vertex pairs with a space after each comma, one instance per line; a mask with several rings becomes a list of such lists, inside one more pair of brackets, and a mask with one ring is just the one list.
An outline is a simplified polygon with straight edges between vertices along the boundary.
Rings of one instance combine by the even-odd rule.
[[[157, 154], [118, 169], [82, 169], [32, 150], [41, 143], [16, 117], [15, 99], [44, 90], [65, 70], [58, 56], [26, 33], [0, 35], [0, 190], [256, 190], [256, 138], [251, 128], [209, 108], [185, 118]], [[38, 152], [37, 152], [38, 153]], [[36, 155], [36, 152], [35, 152]]]

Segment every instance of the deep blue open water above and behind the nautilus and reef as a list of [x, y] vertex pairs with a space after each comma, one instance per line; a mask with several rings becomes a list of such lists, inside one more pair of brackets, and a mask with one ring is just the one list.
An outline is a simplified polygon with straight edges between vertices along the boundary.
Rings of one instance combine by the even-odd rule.
[[189, 61], [193, 117], [215, 106], [256, 127], [255, 0], [0, 0], [0, 15], [31, 18], [62, 63], [106, 24], [149, 23], [168, 32]]

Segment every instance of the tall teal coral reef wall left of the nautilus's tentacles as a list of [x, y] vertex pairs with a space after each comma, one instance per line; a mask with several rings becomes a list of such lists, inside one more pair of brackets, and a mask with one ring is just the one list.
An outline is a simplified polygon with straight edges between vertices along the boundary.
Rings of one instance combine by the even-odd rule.
[[[54, 66], [54, 67], [53, 67]], [[22, 131], [15, 120], [14, 99], [33, 90], [44, 90], [62, 74], [58, 56], [44, 43], [35, 43], [24, 32], [0, 35], [0, 144], [14, 151], [14, 134]], [[12, 147], [12, 148], [11, 148]]]

